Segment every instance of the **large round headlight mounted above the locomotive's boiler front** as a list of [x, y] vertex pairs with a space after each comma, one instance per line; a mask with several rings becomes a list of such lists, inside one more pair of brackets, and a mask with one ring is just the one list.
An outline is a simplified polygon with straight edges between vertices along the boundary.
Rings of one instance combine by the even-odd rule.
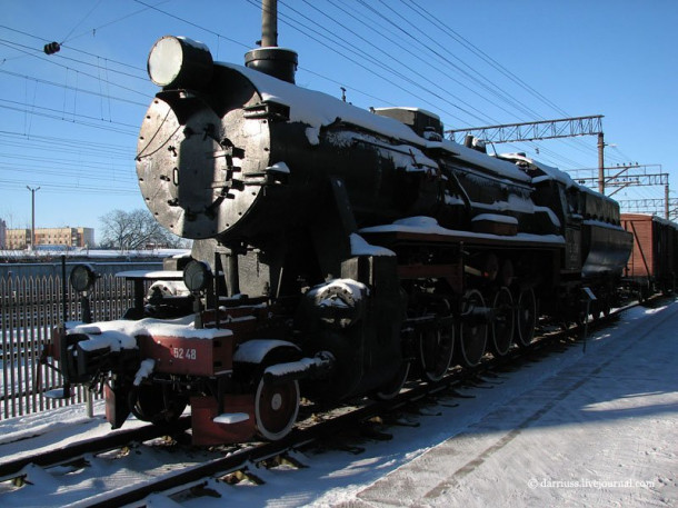
[[201, 89], [212, 79], [212, 71], [207, 46], [183, 37], [159, 39], [148, 56], [148, 76], [163, 88]]

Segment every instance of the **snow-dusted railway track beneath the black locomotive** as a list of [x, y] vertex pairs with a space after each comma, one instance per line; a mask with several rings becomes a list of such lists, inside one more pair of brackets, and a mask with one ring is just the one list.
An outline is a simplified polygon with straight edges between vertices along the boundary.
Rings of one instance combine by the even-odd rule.
[[[606, 326], [628, 308], [628, 306], [610, 313], [607, 318], [589, 322], [588, 331]], [[207, 459], [198, 465], [181, 468], [176, 471], [146, 480], [141, 484], [127, 486], [124, 488], [100, 492], [87, 499], [87, 506], [112, 507], [112, 506], [144, 506], [144, 498], [153, 492], [166, 492], [172, 496], [183, 491], [201, 492], [207, 485], [207, 479], [211, 477], [223, 478], [237, 474], [238, 477], [248, 477], [248, 470], [252, 465], [270, 461], [279, 464], [280, 458], [285, 460], [287, 454], [311, 446], [327, 437], [336, 437], [347, 429], [362, 427], [367, 431], [367, 437], [377, 439], [388, 439], [388, 424], [366, 424], [369, 420], [397, 420], [388, 418], [400, 409], [405, 409], [418, 404], [428, 404], [431, 398], [439, 397], [440, 394], [458, 396], [457, 388], [463, 386], [479, 386], [486, 382], [485, 377], [495, 376], [493, 372], [502, 369], [515, 369], [524, 362], [535, 361], [541, 356], [547, 356], [554, 351], [562, 350], [575, 343], [581, 336], [580, 328], [569, 328], [567, 330], [550, 331], [541, 335], [526, 348], [512, 348], [506, 357], [486, 357], [483, 361], [472, 369], [455, 368], [438, 382], [409, 382], [406, 389], [396, 398], [389, 401], [360, 401], [352, 407], [342, 407], [329, 412], [316, 412], [319, 408], [312, 407], [316, 415], [312, 418], [301, 420], [297, 428], [285, 439], [276, 442], [253, 442], [239, 447], [229, 447], [221, 450], [215, 458]], [[308, 408], [307, 408], [308, 409]], [[310, 411], [309, 411], [310, 412]], [[379, 425], [379, 427], [375, 427]], [[190, 426], [188, 419], [182, 420], [177, 431], [186, 430]], [[367, 426], [367, 427], [366, 427]], [[21, 478], [26, 476], [23, 468], [33, 464], [43, 468], [62, 465], [64, 462], [77, 462], [86, 454], [97, 455], [117, 448], [129, 446], [130, 442], [141, 442], [153, 438], [159, 438], [167, 434], [166, 430], [153, 426], [140, 429], [116, 432], [104, 438], [90, 439], [70, 445], [62, 449], [52, 450], [49, 454], [39, 454], [10, 462], [0, 462], [0, 481], [14, 479], [17, 485], [21, 484]], [[199, 495], [199, 494], [198, 494]]]

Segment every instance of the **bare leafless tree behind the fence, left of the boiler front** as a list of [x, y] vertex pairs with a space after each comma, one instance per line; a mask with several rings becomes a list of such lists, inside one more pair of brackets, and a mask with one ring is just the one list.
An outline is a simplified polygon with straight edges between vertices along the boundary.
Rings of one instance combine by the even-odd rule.
[[101, 217], [103, 223], [101, 246], [121, 252], [153, 247], [182, 248], [186, 242], [162, 228], [150, 211], [113, 210]]

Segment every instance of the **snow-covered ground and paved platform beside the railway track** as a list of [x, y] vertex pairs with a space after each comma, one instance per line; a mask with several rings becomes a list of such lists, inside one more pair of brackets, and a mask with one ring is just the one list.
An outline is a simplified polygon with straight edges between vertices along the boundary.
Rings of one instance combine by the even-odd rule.
[[[389, 429], [391, 441], [362, 442], [360, 455], [297, 454], [307, 469], [252, 467], [265, 485], [211, 480], [221, 498], [183, 505], [678, 506], [677, 353], [678, 302], [632, 309], [589, 338], [586, 352], [576, 346], [466, 389], [476, 397], [442, 400], [428, 409], [431, 416], [413, 418], [418, 428]], [[0, 457], [16, 457], [28, 444], [51, 447], [78, 432], [106, 431], [100, 420], [77, 411], [0, 421]], [[50, 432], [9, 444], [41, 427]], [[128, 480], [158, 466], [152, 454], [143, 457], [126, 465]], [[81, 491], [121, 488], [123, 480], [106, 477], [99, 460], [73, 472], [79, 477], [69, 492], [59, 492], [63, 477], [43, 471], [33, 471], [39, 481], [19, 490], [2, 485], [0, 505], [77, 505]], [[162, 495], [149, 501], [177, 506]]]

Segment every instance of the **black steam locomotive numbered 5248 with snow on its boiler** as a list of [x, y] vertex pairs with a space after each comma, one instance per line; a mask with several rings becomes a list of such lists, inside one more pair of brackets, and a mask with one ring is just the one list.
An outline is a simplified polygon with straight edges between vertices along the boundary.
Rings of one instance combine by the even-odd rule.
[[[618, 205], [525, 155], [443, 139], [438, 116], [366, 111], [164, 37], [138, 142], [141, 193], [190, 257], [123, 319], [61, 328], [66, 381], [103, 386], [113, 428], [191, 406], [197, 445], [292, 429], [310, 400], [388, 399], [410, 377], [530, 343], [538, 316], [607, 312], [632, 246]], [[81, 290], [87, 269], [72, 276]]]

